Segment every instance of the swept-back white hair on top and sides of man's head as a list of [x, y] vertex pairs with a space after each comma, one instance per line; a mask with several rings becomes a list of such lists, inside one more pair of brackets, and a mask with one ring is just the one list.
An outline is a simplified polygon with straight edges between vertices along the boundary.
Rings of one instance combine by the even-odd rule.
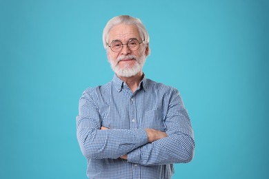
[[[106, 27], [103, 29], [103, 47], [106, 50], [108, 50], [108, 34], [111, 28], [114, 27], [114, 25], [119, 25], [121, 23], [127, 25], [136, 25], [139, 30], [141, 39], [143, 40], [143, 43], [146, 43], [146, 46], [148, 46], [148, 43], [150, 42], [150, 36], [148, 35], [148, 31], [146, 30], [141, 20], [135, 17], [130, 17], [128, 15], [120, 15], [110, 19], [110, 21], [108, 21], [108, 23], [106, 24]], [[150, 54], [149, 48], [148, 54]]]

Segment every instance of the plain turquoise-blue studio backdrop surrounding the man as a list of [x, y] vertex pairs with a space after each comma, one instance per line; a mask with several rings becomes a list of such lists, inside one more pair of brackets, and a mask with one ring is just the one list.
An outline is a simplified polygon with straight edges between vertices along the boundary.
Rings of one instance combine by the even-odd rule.
[[101, 35], [119, 14], [146, 25], [144, 72], [192, 120], [195, 158], [173, 178], [269, 177], [268, 1], [0, 2], [0, 178], [86, 178], [78, 100], [112, 79]]

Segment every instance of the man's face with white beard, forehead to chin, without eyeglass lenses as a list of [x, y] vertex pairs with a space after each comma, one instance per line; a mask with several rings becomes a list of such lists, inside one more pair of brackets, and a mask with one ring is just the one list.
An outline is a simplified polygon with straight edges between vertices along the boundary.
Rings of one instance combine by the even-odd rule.
[[[126, 44], [130, 39], [137, 39], [139, 42], [143, 40], [135, 25], [115, 25], [108, 34], [109, 45], [115, 40]], [[109, 48], [107, 54], [112, 70], [118, 76], [130, 77], [142, 72], [143, 63], [146, 61], [146, 56], [148, 55], [148, 47], [145, 48], [145, 44], [140, 43], [138, 50], [131, 51], [127, 45], [123, 45], [121, 51], [113, 52]]]

